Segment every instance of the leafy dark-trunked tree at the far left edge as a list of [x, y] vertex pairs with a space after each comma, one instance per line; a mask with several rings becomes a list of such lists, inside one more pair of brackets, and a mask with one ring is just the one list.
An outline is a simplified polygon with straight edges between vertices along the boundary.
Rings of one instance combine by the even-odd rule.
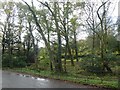
[[[2, 9], [4, 10], [4, 13], [6, 14], [6, 22], [4, 24], [3, 29], [3, 39], [2, 39], [2, 52], [5, 53], [5, 49], [8, 52], [9, 57], [11, 58], [11, 55], [13, 54], [13, 44], [14, 44], [14, 3], [8, 2], [2, 4]], [[12, 24], [13, 23], [13, 24]], [[10, 62], [11, 60], [8, 60], [9, 66], [11, 66]]]

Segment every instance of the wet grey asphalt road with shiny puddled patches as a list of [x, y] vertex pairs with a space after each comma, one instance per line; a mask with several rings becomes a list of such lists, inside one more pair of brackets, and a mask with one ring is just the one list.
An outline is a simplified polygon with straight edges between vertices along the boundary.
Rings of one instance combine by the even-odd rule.
[[3, 71], [2, 88], [96, 88], [96, 87]]

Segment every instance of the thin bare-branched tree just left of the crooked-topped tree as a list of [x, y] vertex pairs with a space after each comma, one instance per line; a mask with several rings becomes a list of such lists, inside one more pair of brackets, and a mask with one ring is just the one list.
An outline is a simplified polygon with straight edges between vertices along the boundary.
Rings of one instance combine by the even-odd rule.
[[[95, 6], [96, 6], [96, 3], [94, 2], [86, 2], [85, 4], [85, 8], [84, 8], [84, 12], [85, 12], [85, 15], [87, 16], [87, 19], [86, 19], [86, 27], [87, 29], [89, 29], [88, 33], [89, 34], [92, 34], [92, 37], [89, 37], [89, 38], [92, 38], [92, 47], [91, 47], [91, 53], [92, 53], [92, 60], [94, 60], [94, 56], [95, 56], [95, 46], [97, 46], [95, 44], [96, 40], [96, 35], [97, 37], [99, 38], [99, 34], [98, 34], [98, 25], [97, 24], [97, 21], [96, 21], [96, 18], [97, 18], [97, 15], [96, 15], [96, 10], [95, 10]], [[88, 40], [89, 42], [89, 40]], [[93, 65], [93, 63], [92, 63]]]

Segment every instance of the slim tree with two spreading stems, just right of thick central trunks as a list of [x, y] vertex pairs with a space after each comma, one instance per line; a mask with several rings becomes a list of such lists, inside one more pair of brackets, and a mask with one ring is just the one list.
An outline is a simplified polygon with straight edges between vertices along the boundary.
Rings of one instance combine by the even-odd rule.
[[[70, 2], [67, 2], [66, 4], [63, 4], [64, 11], [63, 11], [63, 20], [62, 20], [61, 24], [63, 25], [63, 30], [64, 30], [63, 36], [65, 37], [65, 41], [66, 41], [64, 64], [66, 64], [67, 50], [68, 50], [69, 57], [71, 59], [71, 65], [74, 66], [73, 56], [72, 56], [71, 48], [70, 48], [70, 45], [69, 45], [69, 25], [68, 24], [69, 24], [69, 12], [71, 10], [70, 7], [71, 7]], [[65, 71], [66, 71], [66, 69], [65, 69]]]

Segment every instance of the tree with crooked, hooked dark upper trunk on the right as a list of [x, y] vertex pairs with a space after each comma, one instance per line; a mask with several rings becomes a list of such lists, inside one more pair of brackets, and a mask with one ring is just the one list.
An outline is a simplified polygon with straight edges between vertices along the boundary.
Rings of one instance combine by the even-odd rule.
[[[101, 40], [100, 40], [100, 48], [101, 48], [101, 59], [103, 61], [103, 70], [105, 70], [105, 68], [109, 71], [112, 72], [111, 68], [108, 67], [108, 62], [105, 60], [105, 56], [107, 53], [107, 23], [106, 23], [106, 3], [107, 2], [102, 2], [102, 5], [98, 8], [97, 10], [97, 15], [98, 18], [100, 20], [100, 28], [101, 28]], [[99, 14], [99, 10], [103, 7], [103, 13], [102, 13], [102, 17]]]

